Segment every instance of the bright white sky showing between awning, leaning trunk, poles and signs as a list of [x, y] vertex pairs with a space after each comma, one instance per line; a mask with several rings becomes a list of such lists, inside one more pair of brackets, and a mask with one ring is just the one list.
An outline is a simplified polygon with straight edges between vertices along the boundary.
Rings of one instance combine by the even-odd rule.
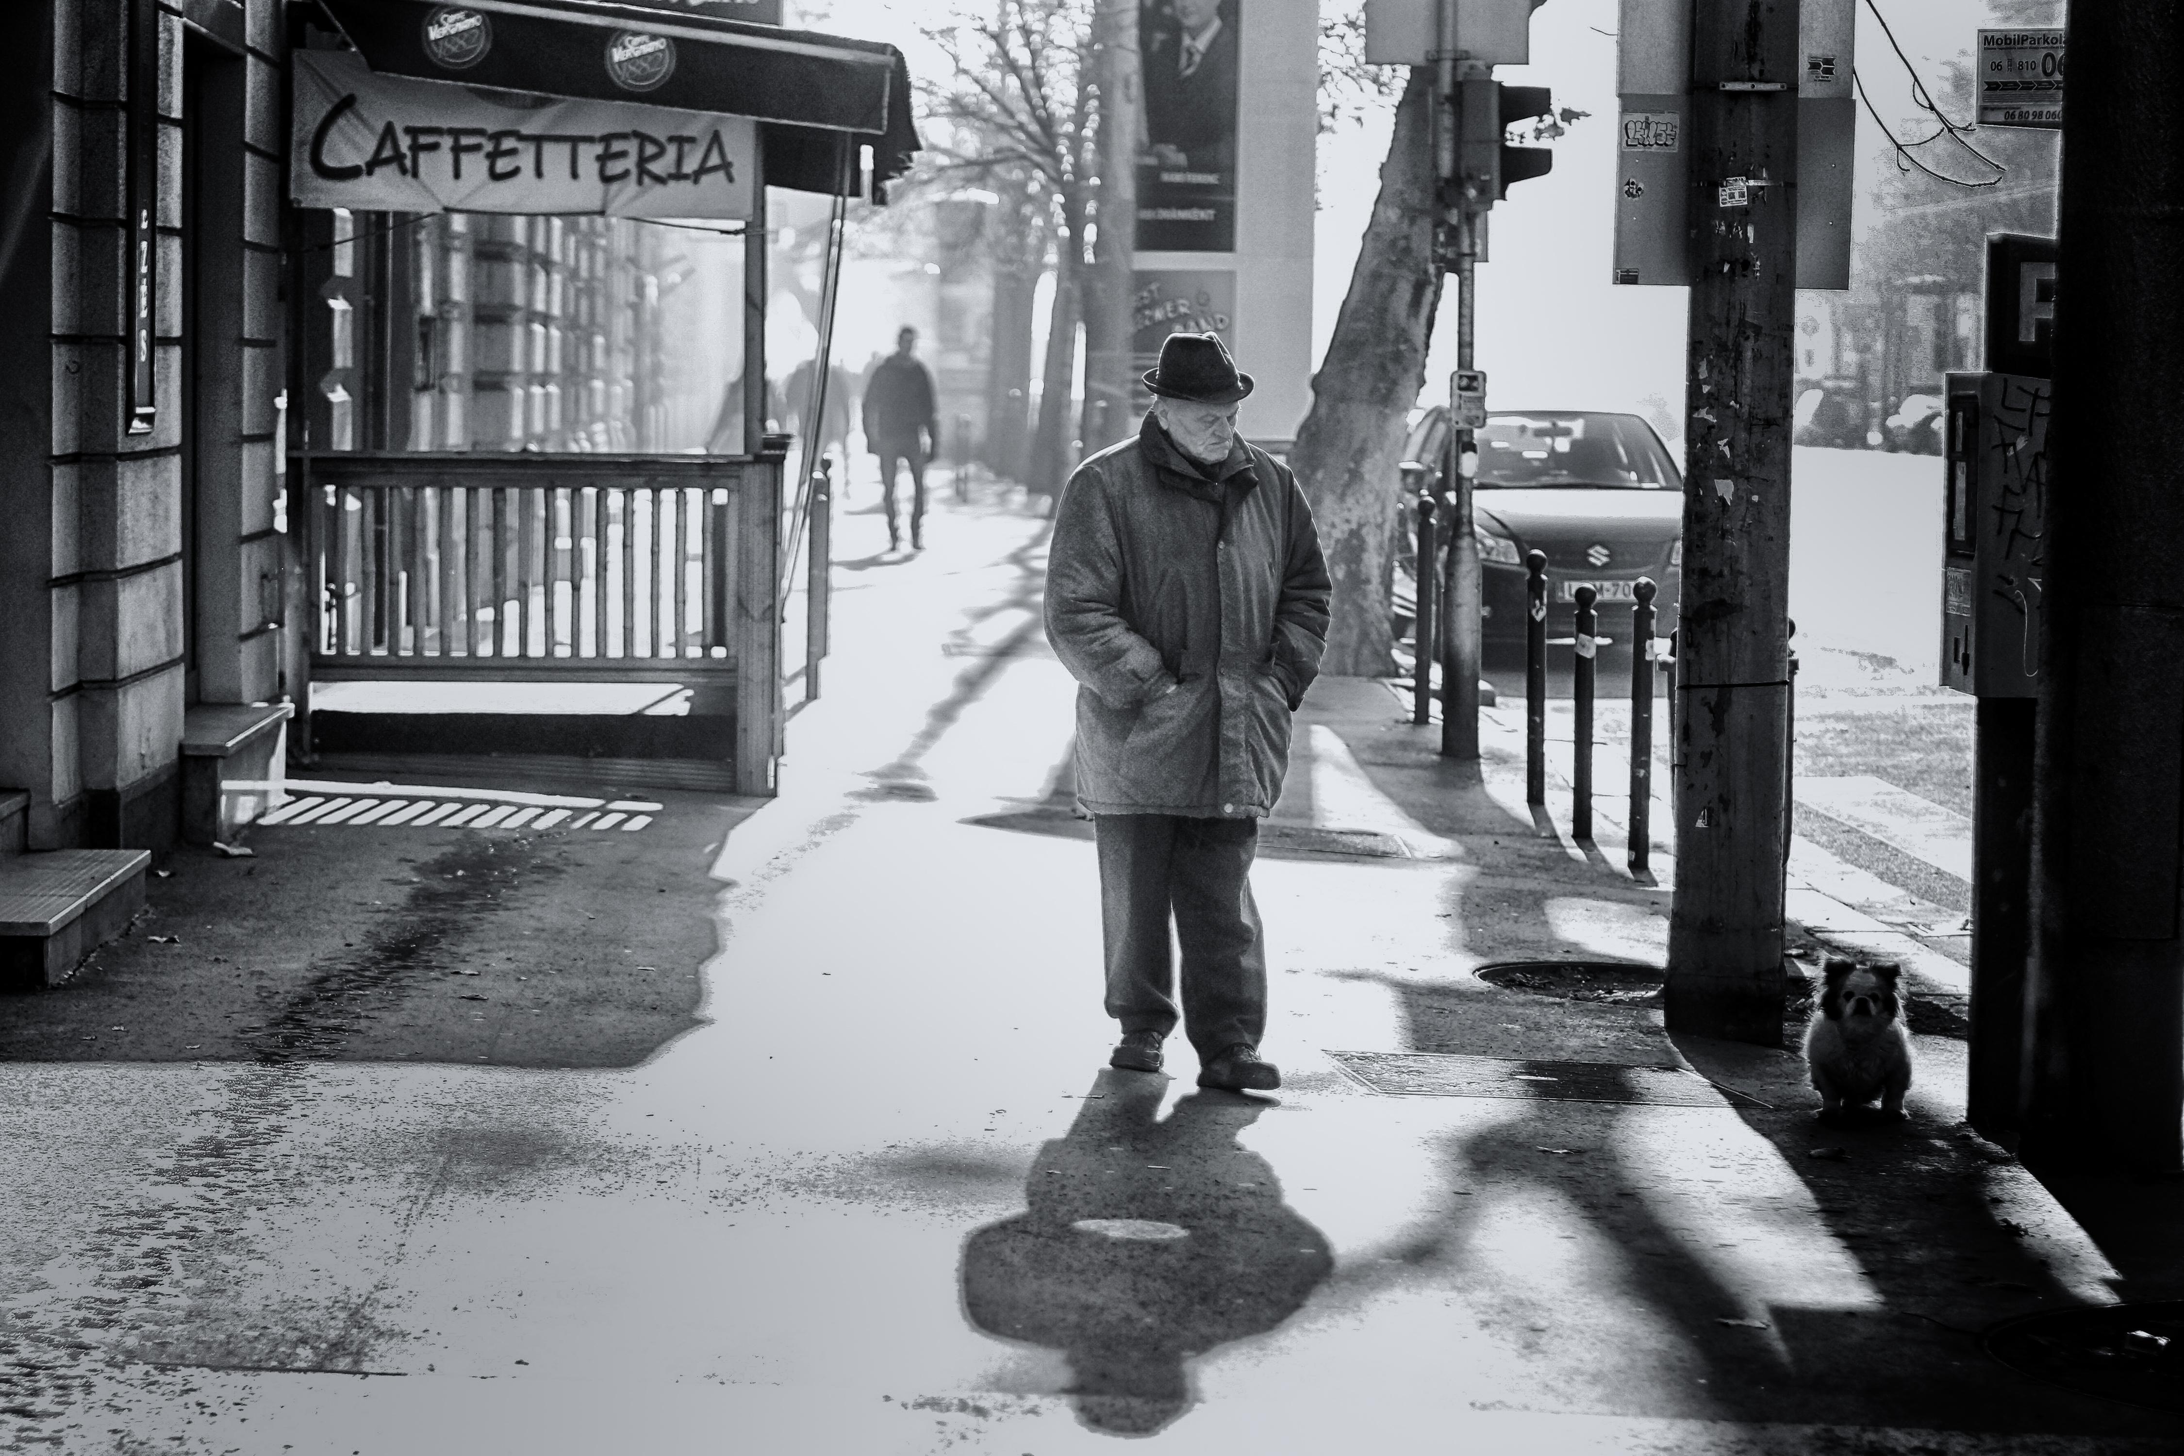
[[[1243, 0], [1302, 4], [1308, 0]], [[1334, 0], [1328, 0], [1332, 4]], [[1974, 31], [1987, 20], [1985, 0], [1876, 0], [1913, 65], [1939, 76], [1939, 63], [1968, 59]], [[815, 28], [904, 48], [913, 74], [939, 65], [917, 35], [937, 0], [819, 0], [791, 9]], [[1612, 258], [1612, 190], [1616, 135], [1616, 0], [1548, 0], [1531, 24], [1533, 65], [1496, 72], [1509, 83], [1548, 85], [1555, 100], [1590, 111], [1555, 144], [1555, 170], [1503, 201], [1489, 225], [1489, 262], [1479, 268], [1479, 365], [1489, 373], [1489, 399], [1509, 408], [1638, 408], [1658, 395], [1682, 413], [1684, 290], [1618, 288], [1607, 282]], [[1859, 72], [1889, 120], [1918, 111], [1909, 81], [1867, 9], [1859, 11]], [[1372, 214], [1385, 116], [1321, 138], [1317, 286], [1313, 354], [1326, 349], [1356, 262], [1358, 236]], [[1859, 116], [1861, 212], [1885, 140]], [[1856, 223], [1863, 231], [1865, 220]], [[1446, 389], [1455, 367], [1455, 308], [1435, 332], [1428, 393]]]

